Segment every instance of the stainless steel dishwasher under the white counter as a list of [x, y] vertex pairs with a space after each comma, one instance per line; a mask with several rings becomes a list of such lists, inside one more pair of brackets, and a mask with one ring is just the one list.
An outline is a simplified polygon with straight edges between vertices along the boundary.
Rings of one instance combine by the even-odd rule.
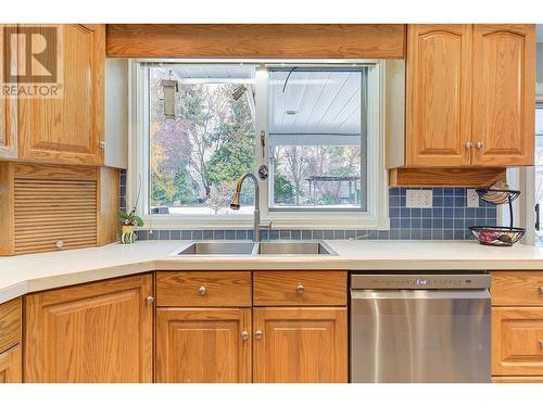
[[490, 382], [490, 275], [351, 276], [351, 382]]

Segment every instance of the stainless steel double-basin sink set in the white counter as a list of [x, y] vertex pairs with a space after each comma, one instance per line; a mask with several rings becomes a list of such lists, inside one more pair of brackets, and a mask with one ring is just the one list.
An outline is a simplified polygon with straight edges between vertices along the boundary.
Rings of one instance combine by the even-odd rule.
[[175, 256], [210, 256], [210, 255], [331, 255], [336, 253], [325, 242], [195, 242]]

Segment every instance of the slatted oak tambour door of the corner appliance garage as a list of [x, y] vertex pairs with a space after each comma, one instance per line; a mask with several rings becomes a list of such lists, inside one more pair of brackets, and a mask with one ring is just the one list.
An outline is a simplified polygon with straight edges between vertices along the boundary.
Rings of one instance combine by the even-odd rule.
[[14, 252], [97, 245], [96, 169], [20, 166], [14, 176]]

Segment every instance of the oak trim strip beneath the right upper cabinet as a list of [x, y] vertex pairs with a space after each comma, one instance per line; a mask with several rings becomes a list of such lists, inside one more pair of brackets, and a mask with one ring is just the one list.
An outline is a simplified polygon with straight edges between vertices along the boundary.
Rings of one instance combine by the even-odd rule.
[[505, 168], [393, 168], [390, 187], [488, 187], [505, 181]]

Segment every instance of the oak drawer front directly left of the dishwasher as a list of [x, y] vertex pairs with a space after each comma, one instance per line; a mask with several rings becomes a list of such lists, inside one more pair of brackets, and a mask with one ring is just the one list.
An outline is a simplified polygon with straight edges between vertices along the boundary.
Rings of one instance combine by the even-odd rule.
[[254, 271], [254, 305], [345, 305], [346, 271]]

